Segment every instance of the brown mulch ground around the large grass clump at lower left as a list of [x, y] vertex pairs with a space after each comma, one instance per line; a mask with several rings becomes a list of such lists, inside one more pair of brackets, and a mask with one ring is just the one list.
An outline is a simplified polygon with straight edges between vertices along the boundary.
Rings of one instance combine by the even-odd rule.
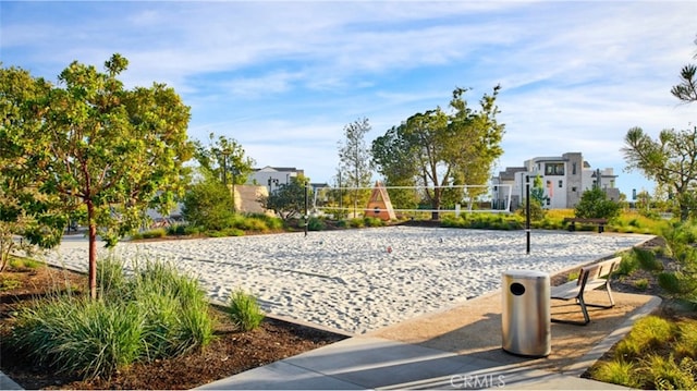
[[15, 289], [0, 291], [0, 370], [27, 390], [96, 389], [96, 390], [173, 390], [192, 389], [255, 367], [315, 350], [344, 339], [344, 335], [267, 318], [257, 330], [239, 332], [229, 319], [211, 308], [219, 319], [216, 340], [200, 353], [149, 364], [136, 364], [111, 379], [82, 381], [57, 375], [51, 368], [38, 367], [24, 354], [13, 352], [2, 341], [11, 332], [12, 315], [22, 306], [45, 294], [68, 279], [73, 286], [87, 286], [85, 276], [50, 267], [5, 270], [3, 281]]

